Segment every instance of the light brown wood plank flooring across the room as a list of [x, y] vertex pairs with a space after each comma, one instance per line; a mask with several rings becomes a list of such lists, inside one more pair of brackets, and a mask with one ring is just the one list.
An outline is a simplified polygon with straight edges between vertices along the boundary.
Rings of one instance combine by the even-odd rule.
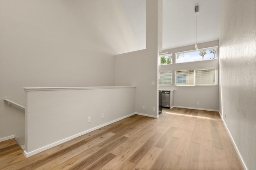
[[243, 170], [218, 112], [163, 109], [132, 115], [25, 158], [0, 143], [1, 170]]

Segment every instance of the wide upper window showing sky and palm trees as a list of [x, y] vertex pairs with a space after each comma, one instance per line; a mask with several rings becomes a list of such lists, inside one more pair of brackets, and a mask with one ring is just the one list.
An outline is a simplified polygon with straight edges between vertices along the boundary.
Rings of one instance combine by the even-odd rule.
[[176, 63], [217, 59], [217, 47], [199, 49], [198, 51], [193, 50], [182, 53], [175, 53], [175, 57]]

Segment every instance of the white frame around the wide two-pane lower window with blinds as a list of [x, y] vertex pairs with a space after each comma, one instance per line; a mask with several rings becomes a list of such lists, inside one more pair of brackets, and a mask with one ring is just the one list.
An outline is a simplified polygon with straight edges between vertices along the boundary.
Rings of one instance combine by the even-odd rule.
[[[213, 80], [214, 83], [216, 84], [196, 84], [196, 71], [200, 71], [200, 70], [217, 70], [217, 73], [213, 75]], [[193, 73], [194, 73], [194, 77], [193, 77], [193, 85], [177, 85], [177, 71], [190, 71], [190, 70], [193, 70]], [[218, 67], [206, 67], [206, 68], [190, 68], [190, 69], [179, 69], [179, 70], [175, 70], [175, 78], [174, 78], [174, 81], [175, 81], [175, 86], [219, 86], [219, 68]], [[217, 76], [216, 76], [217, 75]]]

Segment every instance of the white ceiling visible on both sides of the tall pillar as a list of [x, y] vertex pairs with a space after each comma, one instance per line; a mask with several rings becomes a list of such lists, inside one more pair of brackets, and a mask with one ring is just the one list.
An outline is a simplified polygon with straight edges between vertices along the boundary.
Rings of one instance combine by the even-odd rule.
[[[121, 0], [140, 49], [146, 47], [146, 0]], [[194, 7], [199, 6], [195, 13]], [[221, 0], [163, 0], [163, 49], [219, 39]], [[196, 36], [197, 14], [197, 36]]]

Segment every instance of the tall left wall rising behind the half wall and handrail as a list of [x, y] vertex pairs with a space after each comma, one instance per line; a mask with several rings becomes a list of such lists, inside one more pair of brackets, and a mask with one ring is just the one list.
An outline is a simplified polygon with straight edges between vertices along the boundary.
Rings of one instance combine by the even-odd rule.
[[120, 1], [0, 0], [0, 140], [24, 144], [23, 87], [114, 86], [114, 55], [138, 50]]

